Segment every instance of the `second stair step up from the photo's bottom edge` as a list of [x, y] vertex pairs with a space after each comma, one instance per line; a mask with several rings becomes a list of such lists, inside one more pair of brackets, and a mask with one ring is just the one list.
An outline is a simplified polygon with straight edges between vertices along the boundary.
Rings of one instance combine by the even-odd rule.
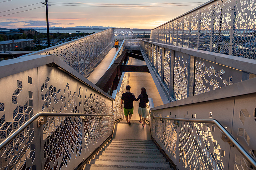
[[94, 155], [94, 159], [118, 159], [118, 160], [131, 160], [131, 161], [156, 161], [166, 162], [163, 157], [150, 157], [150, 156], [116, 156], [116, 155]]

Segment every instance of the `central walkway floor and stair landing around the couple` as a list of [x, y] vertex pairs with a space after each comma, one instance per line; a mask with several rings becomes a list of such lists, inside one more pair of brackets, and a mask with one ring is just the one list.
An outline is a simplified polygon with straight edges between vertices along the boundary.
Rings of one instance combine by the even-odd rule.
[[[146, 62], [133, 58], [132, 65], [146, 65]], [[145, 87], [148, 97], [153, 98], [155, 106], [163, 104], [150, 73], [130, 73], [129, 85], [131, 86], [131, 92], [134, 93], [136, 98], [141, 94], [141, 88]], [[115, 124], [112, 138], [151, 140], [149, 125], [145, 124], [145, 128], [143, 128], [142, 124], [139, 123], [139, 102], [140, 100], [133, 102], [134, 114], [131, 117], [131, 125], [126, 124], [125, 119]]]

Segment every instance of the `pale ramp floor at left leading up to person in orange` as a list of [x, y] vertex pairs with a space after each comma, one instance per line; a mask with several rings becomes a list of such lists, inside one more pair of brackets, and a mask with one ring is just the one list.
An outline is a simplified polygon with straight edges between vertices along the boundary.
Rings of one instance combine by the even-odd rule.
[[113, 60], [116, 53], [115, 47], [111, 48], [109, 53], [105, 56], [105, 58], [100, 62], [100, 64], [95, 68], [95, 70], [91, 73], [91, 75], [87, 78], [93, 84], [96, 84], [102, 75], [107, 71], [111, 61]]

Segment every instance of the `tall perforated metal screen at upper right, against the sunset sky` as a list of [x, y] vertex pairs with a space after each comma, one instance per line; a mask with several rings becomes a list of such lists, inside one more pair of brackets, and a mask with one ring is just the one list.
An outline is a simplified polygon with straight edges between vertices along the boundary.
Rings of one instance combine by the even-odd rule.
[[[256, 3], [215, 0], [152, 30], [154, 42], [256, 59]], [[168, 31], [166, 31], [168, 29]], [[165, 41], [170, 35], [170, 41]]]

